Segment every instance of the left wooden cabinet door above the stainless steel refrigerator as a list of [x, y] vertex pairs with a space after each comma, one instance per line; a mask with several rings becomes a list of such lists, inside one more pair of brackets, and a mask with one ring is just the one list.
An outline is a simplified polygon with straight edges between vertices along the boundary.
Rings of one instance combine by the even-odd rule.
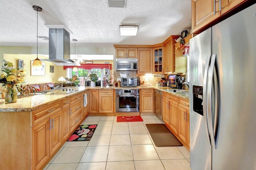
[[192, 0], [192, 32], [194, 34], [218, 17], [220, 17], [219, 4], [215, 0]]

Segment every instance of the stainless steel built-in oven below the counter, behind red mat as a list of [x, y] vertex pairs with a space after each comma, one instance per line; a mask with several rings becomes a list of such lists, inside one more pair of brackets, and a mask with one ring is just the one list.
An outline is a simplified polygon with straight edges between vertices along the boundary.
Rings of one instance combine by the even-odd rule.
[[139, 112], [139, 89], [116, 89], [116, 112]]

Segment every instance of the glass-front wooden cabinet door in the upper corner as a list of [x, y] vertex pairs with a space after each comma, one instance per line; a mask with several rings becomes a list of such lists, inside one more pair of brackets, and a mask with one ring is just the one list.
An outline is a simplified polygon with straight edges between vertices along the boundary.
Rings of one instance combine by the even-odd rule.
[[163, 73], [163, 48], [154, 48], [154, 73]]

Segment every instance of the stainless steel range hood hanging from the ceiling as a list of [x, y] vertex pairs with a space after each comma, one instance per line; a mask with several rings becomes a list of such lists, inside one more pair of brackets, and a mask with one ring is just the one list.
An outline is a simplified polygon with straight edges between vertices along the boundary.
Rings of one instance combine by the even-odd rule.
[[76, 65], [80, 63], [70, 59], [70, 34], [64, 28], [49, 28], [49, 59], [54, 65]]

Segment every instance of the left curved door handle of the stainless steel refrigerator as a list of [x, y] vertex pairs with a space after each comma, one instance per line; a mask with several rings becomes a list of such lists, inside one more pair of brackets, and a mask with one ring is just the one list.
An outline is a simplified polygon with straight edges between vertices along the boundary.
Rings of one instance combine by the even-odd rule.
[[209, 66], [210, 66], [210, 57], [211, 56], [207, 56], [206, 58], [206, 63], [205, 63], [205, 69], [204, 69], [204, 84], [203, 84], [203, 116], [204, 116], [204, 127], [205, 127], [205, 131], [206, 131], [206, 138], [208, 143], [211, 145], [211, 141], [210, 141], [210, 132], [208, 129], [208, 121], [207, 121], [207, 78], [208, 78], [208, 70], [209, 70]]

